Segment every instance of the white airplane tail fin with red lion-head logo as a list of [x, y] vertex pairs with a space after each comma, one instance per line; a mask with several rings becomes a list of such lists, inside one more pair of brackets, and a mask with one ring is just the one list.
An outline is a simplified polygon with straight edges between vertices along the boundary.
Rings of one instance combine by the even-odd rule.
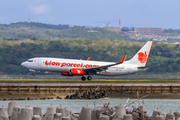
[[148, 41], [137, 53], [134, 55], [132, 59], [127, 61], [129, 64], [136, 64], [139, 66], [146, 66], [149, 54], [151, 52], [151, 48], [153, 45], [153, 41]]

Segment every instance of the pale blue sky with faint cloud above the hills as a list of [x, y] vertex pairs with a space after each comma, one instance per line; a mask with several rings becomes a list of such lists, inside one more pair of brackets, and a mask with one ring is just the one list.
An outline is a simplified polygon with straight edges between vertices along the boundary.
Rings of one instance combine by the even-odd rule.
[[80, 26], [180, 29], [180, 0], [0, 0], [0, 24], [22, 21]]

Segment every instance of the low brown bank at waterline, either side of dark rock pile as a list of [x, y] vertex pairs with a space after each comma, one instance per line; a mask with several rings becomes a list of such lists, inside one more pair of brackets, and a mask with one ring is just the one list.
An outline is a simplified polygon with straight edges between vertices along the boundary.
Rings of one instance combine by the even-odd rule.
[[[1, 93], [0, 100], [45, 100], [45, 99], [65, 99], [67, 95], [72, 95], [70, 93], [63, 94], [12, 94], [12, 93]], [[140, 98], [148, 95], [139, 93]], [[119, 93], [110, 93], [108, 97], [99, 98], [99, 99], [137, 99], [137, 94], [119, 94]], [[180, 99], [180, 94], [149, 94], [143, 99]], [[86, 100], [86, 99], [72, 99], [72, 100]], [[89, 99], [88, 99], [89, 100]], [[92, 99], [96, 100], [96, 99]]]

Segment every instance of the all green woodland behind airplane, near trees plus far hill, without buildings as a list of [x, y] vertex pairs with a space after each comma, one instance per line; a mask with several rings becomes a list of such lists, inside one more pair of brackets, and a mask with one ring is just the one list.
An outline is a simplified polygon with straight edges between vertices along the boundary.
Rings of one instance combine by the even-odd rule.
[[[180, 35], [180, 30], [165, 29], [164, 32]], [[0, 24], [0, 74], [29, 73], [20, 64], [33, 57], [119, 61], [127, 54], [130, 59], [147, 40], [130, 41], [133, 40], [127, 36], [101, 28], [35, 22]], [[179, 45], [155, 43], [148, 65], [160, 66], [151, 67], [144, 74], [180, 73], [179, 51]]]

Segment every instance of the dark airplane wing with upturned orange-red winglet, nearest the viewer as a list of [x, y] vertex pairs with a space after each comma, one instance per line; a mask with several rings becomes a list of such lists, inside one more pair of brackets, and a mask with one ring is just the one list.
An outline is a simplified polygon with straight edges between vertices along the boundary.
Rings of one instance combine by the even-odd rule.
[[115, 66], [115, 65], [118, 65], [118, 64], [122, 64], [124, 62], [126, 56], [127, 56], [127, 54], [118, 63], [109, 64], [109, 65], [103, 65], [103, 66], [93, 67], [93, 68], [84, 68], [83, 70], [84, 70], [84, 72], [87, 72], [87, 73], [97, 73], [97, 72], [105, 71], [105, 70], [108, 69], [108, 67]]

